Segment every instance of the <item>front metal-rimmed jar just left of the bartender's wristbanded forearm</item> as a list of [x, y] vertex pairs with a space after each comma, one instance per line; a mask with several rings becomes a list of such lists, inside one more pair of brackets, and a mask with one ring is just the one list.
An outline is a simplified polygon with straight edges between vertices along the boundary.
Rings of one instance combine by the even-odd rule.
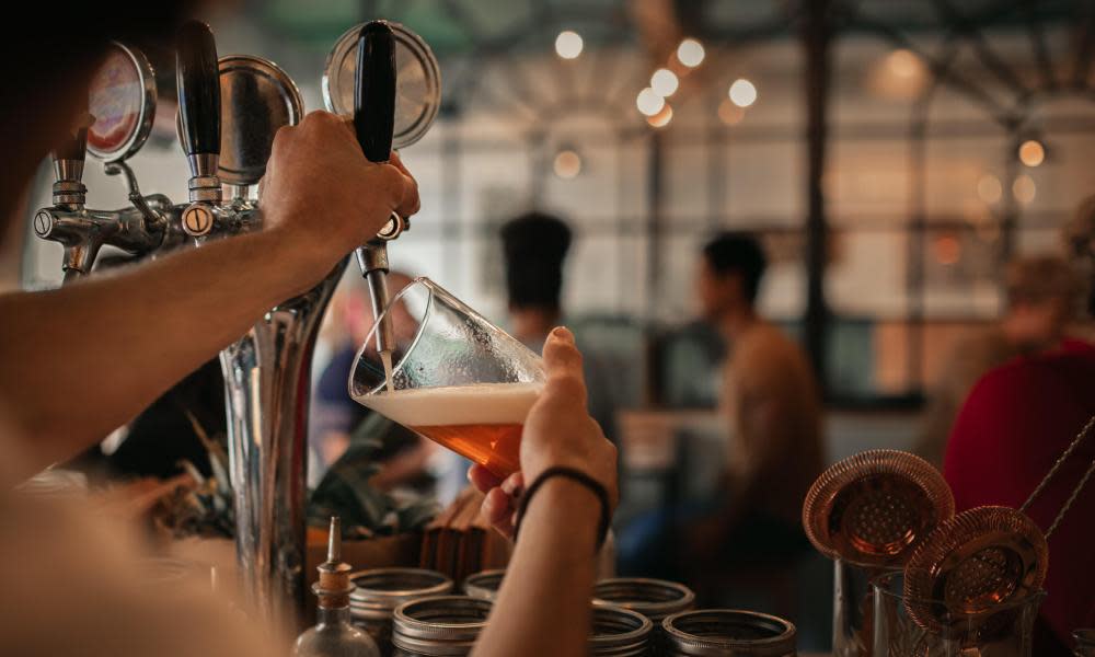
[[468, 596], [423, 598], [400, 606], [392, 623], [395, 657], [460, 657], [472, 652], [492, 603]]

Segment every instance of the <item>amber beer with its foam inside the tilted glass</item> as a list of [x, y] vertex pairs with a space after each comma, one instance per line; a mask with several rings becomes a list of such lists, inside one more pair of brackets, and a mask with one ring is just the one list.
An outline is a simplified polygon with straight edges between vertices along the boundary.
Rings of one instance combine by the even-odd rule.
[[498, 476], [507, 476], [521, 468], [521, 428], [540, 389], [539, 383], [479, 383], [355, 399]]

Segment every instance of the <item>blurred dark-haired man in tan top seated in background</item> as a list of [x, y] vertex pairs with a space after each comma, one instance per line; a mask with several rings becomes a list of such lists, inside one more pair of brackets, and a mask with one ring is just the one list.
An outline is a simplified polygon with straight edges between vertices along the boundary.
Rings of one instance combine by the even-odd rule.
[[803, 498], [822, 468], [821, 401], [802, 348], [760, 316], [768, 258], [757, 239], [723, 233], [703, 250], [698, 291], [722, 333], [723, 411], [730, 449], [717, 514], [698, 523], [692, 546], [748, 563], [807, 549]]

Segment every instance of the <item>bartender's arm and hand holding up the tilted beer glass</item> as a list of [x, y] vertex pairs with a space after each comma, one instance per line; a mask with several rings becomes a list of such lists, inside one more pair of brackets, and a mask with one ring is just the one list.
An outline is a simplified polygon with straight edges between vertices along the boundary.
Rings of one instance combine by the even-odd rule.
[[[472, 481], [487, 492], [484, 511], [504, 533], [512, 528], [515, 498], [553, 466], [584, 472], [604, 485], [612, 511], [616, 502], [616, 451], [586, 410], [581, 356], [574, 336], [556, 328], [544, 345], [548, 384], [525, 424], [521, 473], [498, 482], [473, 469]], [[577, 657], [586, 655], [590, 598], [601, 504], [574, 481], [553, 477], [528, 502], [520, 535], [491, 620], [474, 657]]]

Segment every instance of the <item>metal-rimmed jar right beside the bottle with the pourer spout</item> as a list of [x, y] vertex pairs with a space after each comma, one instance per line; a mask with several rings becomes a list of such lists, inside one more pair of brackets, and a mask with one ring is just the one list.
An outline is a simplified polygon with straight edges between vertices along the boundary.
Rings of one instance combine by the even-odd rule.
[[374, 568], [350, 576], [357, 587], [349, 595], [354, 625], [377, 642], [382, 655], [392, 654], [392, 614], [395, 608], [418, 598], [452, 591], [452, 580], [424, 568]]

